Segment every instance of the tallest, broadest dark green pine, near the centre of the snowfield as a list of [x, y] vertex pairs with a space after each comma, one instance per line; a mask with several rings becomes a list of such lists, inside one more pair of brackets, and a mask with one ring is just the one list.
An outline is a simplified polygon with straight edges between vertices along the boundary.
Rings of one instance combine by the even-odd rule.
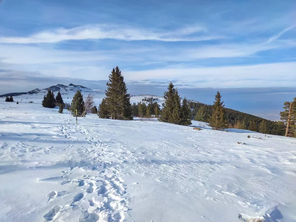
[[116, 66], [109, 75], [106, 90], [107, 109], [112, 119], [133, 119], [130, 97], [121, 71]]

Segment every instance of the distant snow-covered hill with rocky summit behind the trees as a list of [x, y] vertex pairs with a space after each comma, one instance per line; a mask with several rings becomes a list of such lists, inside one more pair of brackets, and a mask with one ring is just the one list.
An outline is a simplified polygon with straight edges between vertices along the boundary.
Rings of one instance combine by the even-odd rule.
[[[92, 94], [94, 96], [94, 101], [95, 101], [95, 106], [99, 106], [100, 103], [102, 102], [103, 98], [105, 97], [105, 91], [102, 89], [90, 89], [87, 87], [84, 87], [82, 85], [74, 85], [74, 84], [69, 84], [69, 85], [63, 85], [63, 84], [57, 84], [54, 86], [48, 87], [50, 88], [55, 96], [57, 95], [57, 92], [60, 91], [63, 97], [63, 100], [65, 103], [70, 103], [72, 102], [72, 98], [74, 94], [76, 93], [77, 90], [80, 90], [82, 95], [86, 97], [88, 94]], [[43, 96], [47, 93], [48, 88], [45, 89], [34, 89], [26, 93], [8, 93], [1, 95], [0, 101], [4, 101], [6, 95], [10, 96], [13, 95], [14, 101], [19, 102], [19, 103], [37, 103], [41, 104]], [[158, 96], [152, 96], [152, 95], [140, 95], [140, 96], [132, 96], [131, 97], [131, 103], [138, 103], [142, 101], [144, 98], [155, 98], [156, 102], [161, 106], [163, 102], [163, 97], [158, 97]]]

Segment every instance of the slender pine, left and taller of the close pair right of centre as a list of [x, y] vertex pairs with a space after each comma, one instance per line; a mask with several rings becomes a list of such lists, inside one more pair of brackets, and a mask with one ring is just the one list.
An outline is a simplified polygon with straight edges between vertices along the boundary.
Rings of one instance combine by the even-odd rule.
[[168, 86], [168, 91], [164, 92], [164, 103], [162, 104], [162, 113], [159, 117], [159, 121], [172, 123], [175, 91], [176, 89], [174, 89], [174, 85], [171, 82]]

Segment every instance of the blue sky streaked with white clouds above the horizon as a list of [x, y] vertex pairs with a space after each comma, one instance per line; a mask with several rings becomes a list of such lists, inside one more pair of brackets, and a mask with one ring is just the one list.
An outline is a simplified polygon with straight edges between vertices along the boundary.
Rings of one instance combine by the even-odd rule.
[[0, 94], [117, 65], [134, 94], [295, 87], [296, 1], [0, 0]]

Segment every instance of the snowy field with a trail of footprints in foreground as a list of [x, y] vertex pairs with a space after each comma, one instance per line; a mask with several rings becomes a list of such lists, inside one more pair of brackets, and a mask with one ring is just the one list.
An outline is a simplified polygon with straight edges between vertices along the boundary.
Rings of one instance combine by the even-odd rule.
[[0, 102], [1, 222], [296, 222], [296, 139], [95, 114], [76, 125], [25, 97]]

